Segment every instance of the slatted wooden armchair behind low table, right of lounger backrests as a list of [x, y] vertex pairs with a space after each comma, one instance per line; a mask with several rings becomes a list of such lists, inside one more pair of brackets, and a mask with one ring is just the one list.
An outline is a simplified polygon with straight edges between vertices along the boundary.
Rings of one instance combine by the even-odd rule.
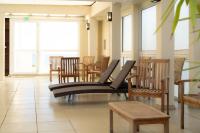
[[[137, 66], [136, 75], [128, 77], [128, 94], [135, 96], [161, 98], [161, 111], [164, 112], [167, 95], [167, 114], [169, 114], [169, 59], [142, 60]], [[132, 86], [131, 78], [136, 78]]]

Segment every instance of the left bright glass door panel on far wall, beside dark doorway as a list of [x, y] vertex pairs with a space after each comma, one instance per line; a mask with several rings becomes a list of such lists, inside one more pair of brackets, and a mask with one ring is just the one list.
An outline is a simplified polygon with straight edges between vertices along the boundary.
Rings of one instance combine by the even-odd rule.
[[35, 22], [15, 21], [13, 34], [13, 73], [36, 73], [36, 31]]

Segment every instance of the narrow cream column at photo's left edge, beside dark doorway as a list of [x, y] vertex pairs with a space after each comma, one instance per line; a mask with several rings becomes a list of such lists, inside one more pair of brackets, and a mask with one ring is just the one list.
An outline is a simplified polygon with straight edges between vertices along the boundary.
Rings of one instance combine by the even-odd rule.
[[4, 14], [0, 13], [0, 81], [5, 77], [5, 18]]

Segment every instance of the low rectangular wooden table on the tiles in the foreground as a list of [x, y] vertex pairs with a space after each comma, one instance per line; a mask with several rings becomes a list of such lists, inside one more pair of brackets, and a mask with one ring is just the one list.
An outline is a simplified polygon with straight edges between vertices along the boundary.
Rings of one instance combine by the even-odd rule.
[[110, 108], [110, 133], [113, 133], [113, 112], [132, 123], [131, 133], [139, 131], [142, 124], [164, 124], [164, 133], [169, 133], [169, 116], [149, 105], [136, 101], [112, 102]]

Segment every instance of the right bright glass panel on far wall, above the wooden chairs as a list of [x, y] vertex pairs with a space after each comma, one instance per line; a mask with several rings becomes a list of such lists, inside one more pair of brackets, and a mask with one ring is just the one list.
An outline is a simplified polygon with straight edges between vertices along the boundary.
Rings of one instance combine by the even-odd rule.
[[39, 72], [47, 73], [49, 56], [79, 56], [78, 22], [39, 23]]

